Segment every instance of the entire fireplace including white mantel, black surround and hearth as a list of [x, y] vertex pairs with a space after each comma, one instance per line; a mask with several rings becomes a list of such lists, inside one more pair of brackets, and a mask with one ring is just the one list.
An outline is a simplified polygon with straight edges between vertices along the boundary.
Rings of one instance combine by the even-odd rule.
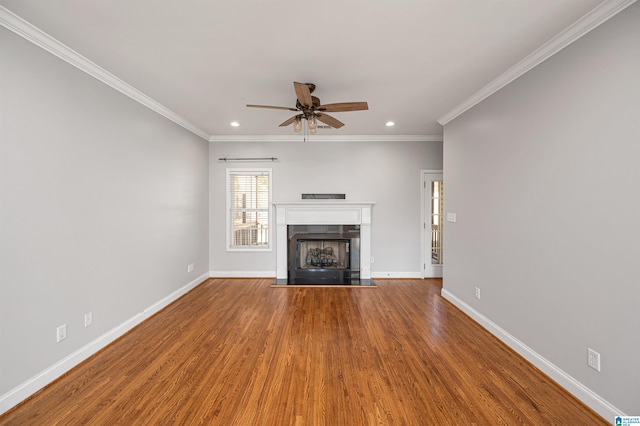
[[344, 200], [274, 203], [274, 285], [375, 286], [371, 280], [373, 204]]

